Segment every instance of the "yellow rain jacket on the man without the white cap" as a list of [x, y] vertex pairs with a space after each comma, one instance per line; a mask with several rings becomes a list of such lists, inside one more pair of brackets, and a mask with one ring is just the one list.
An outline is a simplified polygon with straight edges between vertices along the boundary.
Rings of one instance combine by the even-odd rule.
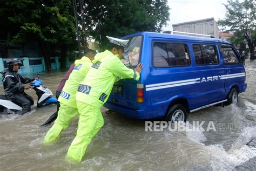
[[59, 95], [58, 101], [62, 104], [77, 108], [76, 91], [79, 83], [84, 80], [87, 72], [91, 68], [92, 62], [89, 58], [83, 57], [75, 61], [75, 67], [71, 72], [69, 79]]

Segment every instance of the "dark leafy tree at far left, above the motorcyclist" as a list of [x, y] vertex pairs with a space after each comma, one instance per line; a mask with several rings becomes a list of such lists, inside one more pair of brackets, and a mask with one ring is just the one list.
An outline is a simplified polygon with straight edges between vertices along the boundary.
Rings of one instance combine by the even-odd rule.
[[13, 0], [1, 1], [0, 4], [0, 17], [6, 22], [7, 43], [37, 40], [48, 71], [51, 70], [49, 48], [59, 45], [61, 66], [64, 67], [66, 51], [76, 40], [70, 0]]

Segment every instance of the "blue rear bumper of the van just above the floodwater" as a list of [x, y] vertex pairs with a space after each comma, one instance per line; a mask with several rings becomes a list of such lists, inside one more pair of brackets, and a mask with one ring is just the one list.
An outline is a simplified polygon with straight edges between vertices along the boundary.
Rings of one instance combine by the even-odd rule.
[[108, 108], [113, 112], [124, 115], [125, 117], [129, 117], [133, 119], [146, 119], [145, 110], [131, 110], [129, 108], [113, 104], [112, 102], [109, 102], [109, 101], [107, 101], [104, 104], [104, 107]]

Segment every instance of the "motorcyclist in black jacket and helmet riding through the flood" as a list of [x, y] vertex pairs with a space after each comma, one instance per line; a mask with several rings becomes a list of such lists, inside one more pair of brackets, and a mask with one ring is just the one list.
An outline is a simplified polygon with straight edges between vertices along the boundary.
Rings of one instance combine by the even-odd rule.
[[3, 75], [5, 96], [12, 102], [21, 104], [22, 114], [24, 114], [31, 110], [31, 105], [34, 104], [34, 101], [30, 95], [24, 92], [24, 90], [32, 88], [32, 86], [23, 86], [22, 84], [30, 83], [31, 81], [35, 80], [35, 78], [26, 78], [22, 77], [21, 74], [18, 74], [18, 69], [20, 68], [21, 64], [21, 60], [9, 59], [6, 61], [8, 69], [2, 71], [1, 73]]

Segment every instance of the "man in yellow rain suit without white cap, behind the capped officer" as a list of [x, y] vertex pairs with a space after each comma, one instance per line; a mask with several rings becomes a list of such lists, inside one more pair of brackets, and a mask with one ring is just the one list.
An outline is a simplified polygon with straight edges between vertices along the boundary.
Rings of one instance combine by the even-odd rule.
[[84, 80], [87, 72], [91, 69], [91, 61], [95, 55], [95, 51], [89, 50], [85, 53], [84, 57], [75, 61], [75, 67], [58, 98], [60, 102], [58, 117], [54, 125], [45, 135], [44, 142], [56, 141], [59, 138], [60, 132], [68, 128], [71, 120], [78, 114], [76, 91], [79, 83]]

